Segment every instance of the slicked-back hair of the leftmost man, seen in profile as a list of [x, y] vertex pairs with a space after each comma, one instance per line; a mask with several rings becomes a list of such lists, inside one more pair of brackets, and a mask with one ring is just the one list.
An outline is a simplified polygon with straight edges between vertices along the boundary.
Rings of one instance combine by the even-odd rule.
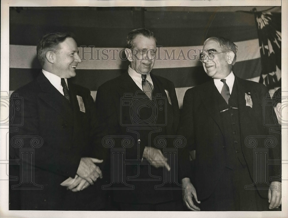
[[37, 57], [43, 67], [46, 60], [46, 53], [58, 49], [59, 43], [65, 41], [66, 38], [73, 38], [75, 35], [71, 32], [50, 32], [44, 35], [37, 43]]

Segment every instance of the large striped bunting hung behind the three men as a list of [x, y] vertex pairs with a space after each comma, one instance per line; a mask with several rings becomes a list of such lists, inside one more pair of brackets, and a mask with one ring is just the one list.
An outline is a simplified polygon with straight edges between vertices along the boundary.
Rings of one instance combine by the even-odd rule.
[[152, 73], [173, 81], [180, 107], [188, 88], [209, 79], [198, 60], [208, 37], [222, 36], [235, 42], [238, 52], [233, 72], [242, 79], [259, 79], [262, 67], [252, 14], [195, 12], [193, 7], [183, 11], [146, 8], [144, 12], [129, 7], [90, 9], [43, 7], [17, 13], [10, 8], [10, 93], [39, 74], [36, 43], [53, 30], [75, 33], [79, 56], [85, 60], [78, 64], [77, 76], [71, 81], [89, 88], [94, 100], [101, 84], [127, 72], [130, 62], [124, 61], [126, 36], [141, 26], [154, 32], [159, 46]]

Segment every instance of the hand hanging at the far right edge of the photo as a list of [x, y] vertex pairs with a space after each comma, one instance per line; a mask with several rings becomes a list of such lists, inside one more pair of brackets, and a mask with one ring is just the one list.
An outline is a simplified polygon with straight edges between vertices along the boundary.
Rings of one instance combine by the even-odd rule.
[[[276, 186], [275, 188], [273, 186]], [[269, 209], [278, 208], [281, 203], [281, 182], [271, 182], [271, 186], [268, 191], [268, 202], [270, 203]]]

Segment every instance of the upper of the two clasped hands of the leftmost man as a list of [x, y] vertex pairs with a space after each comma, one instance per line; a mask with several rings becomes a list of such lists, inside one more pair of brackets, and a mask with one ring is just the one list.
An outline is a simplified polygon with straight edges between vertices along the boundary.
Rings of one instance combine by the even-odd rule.
[[82, 157], [77, 170], [77, 175], [87, 180], [90, 185], [93, 185], [97, 178], [102, 178], [101, 169], [94, 163], [102, 163], [103, 160], [98, 160], [91, 157]]

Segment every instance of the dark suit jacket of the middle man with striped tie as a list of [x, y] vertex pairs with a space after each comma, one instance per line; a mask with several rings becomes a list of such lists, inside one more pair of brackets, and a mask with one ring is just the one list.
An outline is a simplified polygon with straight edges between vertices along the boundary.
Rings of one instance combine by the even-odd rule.
[[[130, 188], [134, 186], [133, 190], [113, 190], [114, 200], [117, 202], [153, 204], [181, 197], [180, 190], [176, 194], [171, 190], [155, 190], [156, 185], [163, 183], [163, 168], [156, 169], [147, 164], [145, 159], [141, 162], [145, 146], [157, 148], [154, 139], [158, 136], [163, 136], [167, 140], [167, 146], [173, 147], [173, 137], [167, 136], [175, 136], [179, 122], [179, 105], [173, 83], [162, 77], [150, 75], [155, 89], [152, 101], [139, 89], [128, 73], [104, 83], [97, 90], [96, 108], [99, 119], [106, 125], [107, 136], [111, 136], [115, 141], [111, 151], [115, 148], [125, 149], [125, 170], [121, 173], [126, 184]], [[171, 104], [165, 90], [169, 93]], [[155, 104], [142, 108], [145, 102]], [[126, 148], [122, 146], [124, 138], [132, 142]], [[138, 139], [141, 140], [139, 144]], [[127, 177], [137, 177], [138, 180]], [[111, 178], [109, 180], [111, 181]], [[113, 187], [116, 185], [118, 188], [127, 188], [123, 183], [114, 183]]]

